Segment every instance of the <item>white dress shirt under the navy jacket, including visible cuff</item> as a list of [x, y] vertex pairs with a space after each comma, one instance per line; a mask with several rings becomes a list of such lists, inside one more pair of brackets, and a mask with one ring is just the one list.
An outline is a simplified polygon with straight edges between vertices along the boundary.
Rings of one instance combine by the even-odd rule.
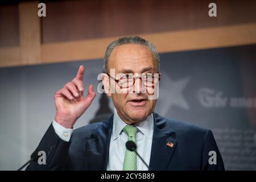
[[[53, 120], [52, 122], [55, 133], [64, 141], [68, 142], [73, 133], [73, 129], [66, 129], [65, 127], [59, 125], [57, 122]], [[122, 121], [122, 119], [117, 114], [117, 111], [114, 110], [114, 118], [113, 118], [113, 130], [110, 139], [109, 146], [109, 160], [108, 160], [108, 171], [123, 169], [123, 160], [125, 159], [125, 144], [127, 142], [127, 135], [122, 131], [123, 127], [127, 124]], [[144, 161], [148, 164], [150, 163], [150, 155], [151, 155], [151, 146], [152, 146], [152, 138], [154, 131], [154, 118], [153, 114], [148, 115], [145, 121], [139, 123], [138, 125], [134, 125], [137, 127], [137, 152], [142, 156]], [[137, 170], [138, 171], [146, 171], [148, 168], [142, 162], [141, 159], [137, 156]]]

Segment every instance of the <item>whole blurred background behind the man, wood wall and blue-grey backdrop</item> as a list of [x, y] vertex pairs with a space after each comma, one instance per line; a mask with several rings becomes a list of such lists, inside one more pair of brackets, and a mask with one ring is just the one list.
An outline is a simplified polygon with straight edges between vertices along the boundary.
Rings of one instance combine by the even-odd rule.
[[[97, 88], [106, 46], [130, 35], [160, 53], [155, 111], [211, 129], [226, 169], [256, 170], [256, 1], [44, 1], [43, 17], [39, 3], [0, 3], [0, 170], [30, 158], [55, 116], [54, 92], [79, 65]], [[75, 127], [112, 111], [97, 93]]]

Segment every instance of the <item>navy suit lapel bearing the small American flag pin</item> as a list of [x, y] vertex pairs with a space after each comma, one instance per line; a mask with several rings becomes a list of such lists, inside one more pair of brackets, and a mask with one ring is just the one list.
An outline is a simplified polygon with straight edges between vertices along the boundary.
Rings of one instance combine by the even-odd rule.
[[166, 121], [160, 115], [154, 115], [154, 134], [152, 139], [150, 169], [166, 170], [172, 159], [177, 141], [175, 131], [167, 126]]

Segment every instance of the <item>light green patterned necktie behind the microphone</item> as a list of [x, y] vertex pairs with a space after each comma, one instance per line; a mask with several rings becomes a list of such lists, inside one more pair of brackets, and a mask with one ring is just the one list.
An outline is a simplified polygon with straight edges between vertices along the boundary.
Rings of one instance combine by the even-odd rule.
[[[128, 140], [133, 141], [136, 144], [137, 127], [127, 125], [123, 128], [123, 131], [128, 136]], [[137, 170], [137, 155], [135, 152], [129, 150], [125, 151], [125, 160], [123, 160], [123, 171], [136, 171]]]

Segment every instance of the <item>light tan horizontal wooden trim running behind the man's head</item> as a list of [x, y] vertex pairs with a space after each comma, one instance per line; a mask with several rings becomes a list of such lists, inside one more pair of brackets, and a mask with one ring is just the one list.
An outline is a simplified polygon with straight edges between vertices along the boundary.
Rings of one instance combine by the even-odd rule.
[[[155, 44], [156, 49], [161, 53], [256, 44], [255, 32], [256, 23], [201, 28], [198, 30], [141, 34], [141, 36]], [[117, 38], [43, 44], [43, 63], [100, 59], [104, 57], [108, 44]]]

